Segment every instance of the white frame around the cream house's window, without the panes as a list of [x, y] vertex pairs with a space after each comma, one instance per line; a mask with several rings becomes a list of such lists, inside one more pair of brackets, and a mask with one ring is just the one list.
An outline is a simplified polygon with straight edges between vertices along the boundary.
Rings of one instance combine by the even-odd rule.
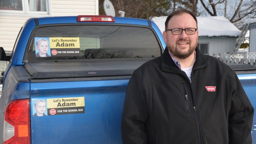
[[29, 0], [21, 0], [22, 10], [0, 10], [1, 15], [51, 16], [51, 0], [46, 0], [46, 11], [30, 11]]

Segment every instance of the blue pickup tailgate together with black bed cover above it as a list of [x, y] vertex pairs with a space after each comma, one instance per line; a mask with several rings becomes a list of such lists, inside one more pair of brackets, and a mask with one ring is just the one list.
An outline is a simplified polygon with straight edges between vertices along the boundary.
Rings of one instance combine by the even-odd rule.
[[[126, 87], [144, 62], [26, 63], [31, 81], [31, 143], [122, 143]], [[35, 114], [38, 101], [45, 103], [44, 116]]]

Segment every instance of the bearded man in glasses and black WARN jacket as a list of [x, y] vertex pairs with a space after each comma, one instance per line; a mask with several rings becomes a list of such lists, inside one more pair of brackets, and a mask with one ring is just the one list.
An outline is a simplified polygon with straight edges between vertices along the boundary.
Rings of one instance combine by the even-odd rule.
[[197, 46], [196, 16], [166, 19], [162, 56], [134, 71], [127, 88], [124, 144], [249, 144], [253, 108], [226, 64]]

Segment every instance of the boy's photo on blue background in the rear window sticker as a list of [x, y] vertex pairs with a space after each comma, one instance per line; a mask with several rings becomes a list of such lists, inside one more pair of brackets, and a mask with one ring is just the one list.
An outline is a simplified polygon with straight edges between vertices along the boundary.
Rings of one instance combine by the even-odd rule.
[[51, 53], [48, 54], [50, 47], [49, 47], [49, 41], [47, 39], [44, 39], [44, 38], [37, 39], [35, 43], [35, 47], [36, 47], [36, 55], [35, 55], [36, 57], [51, 57], [51, 55], [49, 55]]

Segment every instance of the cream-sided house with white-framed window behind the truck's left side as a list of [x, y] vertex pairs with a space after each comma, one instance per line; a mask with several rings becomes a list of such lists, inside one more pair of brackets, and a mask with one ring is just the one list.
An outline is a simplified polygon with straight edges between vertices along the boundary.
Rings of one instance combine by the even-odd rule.
[[0, 47], [11, 52], [31, 17], [98, 15], [98, 0], [0, 0]]

